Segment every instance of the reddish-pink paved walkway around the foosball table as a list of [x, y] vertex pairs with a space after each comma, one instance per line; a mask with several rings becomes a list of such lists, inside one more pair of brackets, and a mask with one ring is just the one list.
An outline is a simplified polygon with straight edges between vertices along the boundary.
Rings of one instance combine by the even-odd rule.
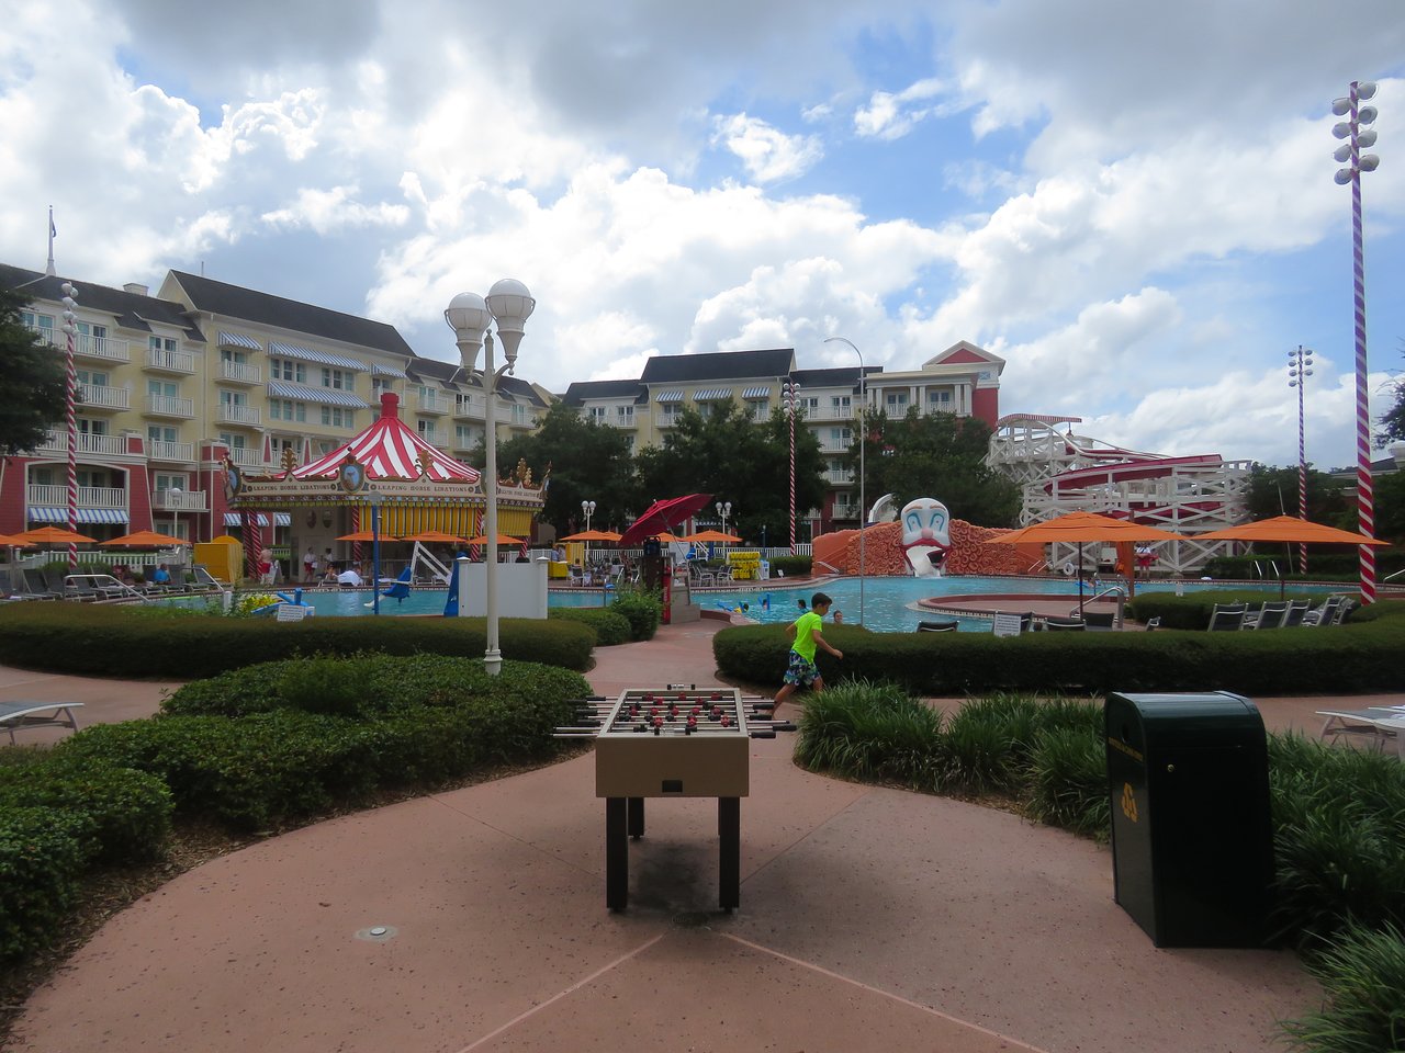
[[[715, 682], [722, 625], [601, 649], [590, 680]], [[0, 670], [0, 689], [86, 701], [91, 723], [152, 712], [162, 685]], [[1321, 705], [1260, 701], [1277, 727]], [[811, 775], [792, 741], [752, 743], [735, 914], [711, 800], [649, 802], [629, 910], [606, 910], [584, 754], [177, 878], [35, 993], [17, 1049], [1256, 1053], [1318, 1000], [1284, 952], [1155, 949], [1106, 848]]]

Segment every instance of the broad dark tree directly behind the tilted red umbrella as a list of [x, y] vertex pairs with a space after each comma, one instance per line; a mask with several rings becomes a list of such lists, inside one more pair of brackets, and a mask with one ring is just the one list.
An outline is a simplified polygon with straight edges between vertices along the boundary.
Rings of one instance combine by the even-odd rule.
[[[766, 526], [767, 543], [790, 539], [790, 425], [783, 410], [757, 427], [731, 400], [711, 404], [707, 417], [687, 407], [663, 445], [641, 451], [636, 465], [646, 500], [708, 493], [736, 508], [731, 532], [759, 542]], [[819, 507], [828, 489], [819, 439], [797, 423], [795, 514]]]

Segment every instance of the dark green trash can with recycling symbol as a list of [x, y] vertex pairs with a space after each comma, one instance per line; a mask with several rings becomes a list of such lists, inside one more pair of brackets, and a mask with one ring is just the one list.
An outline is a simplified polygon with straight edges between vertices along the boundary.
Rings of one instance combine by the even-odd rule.
[[1269, 750], [1246, 698], [1111, 694], [1103, 706], [1114, 899], [1156, 946], [1263, 946]]

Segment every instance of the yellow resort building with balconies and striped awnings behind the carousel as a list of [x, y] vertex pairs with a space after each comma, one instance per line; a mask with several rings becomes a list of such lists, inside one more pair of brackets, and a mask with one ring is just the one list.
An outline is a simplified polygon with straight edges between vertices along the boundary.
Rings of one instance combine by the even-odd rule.
[[[18, 289], [24, 324], [66, 350], [66, 281], [77, 288], [79, 529], [97, 539], [155, 529], [209, 541], [240, 525], [222, 465], [244, 475], [306, 463], [344, 445], [399, 396], [405, 423], [462, 461], [483, 441], [479, 373], [420, 358], [393, 326], [170, 271], [156, 295], [0, 265]], [[502, 439], [531, 431], [547, 402], [504, 376], [495, 406]], [[67, 522], [67, 430], [58, 407], [49, 438], [6, 458], [0, 534]], [[275, 512], [275, 550], [320, 553], [346, 525], [294, 524]]]

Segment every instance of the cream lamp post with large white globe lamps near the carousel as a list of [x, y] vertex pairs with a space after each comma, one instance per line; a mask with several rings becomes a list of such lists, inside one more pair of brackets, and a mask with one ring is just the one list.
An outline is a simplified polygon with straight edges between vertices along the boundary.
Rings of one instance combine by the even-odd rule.
[[[483, 532], [488, 535], [488, 566], [483, 569], [488, 585], [488, 649], [483, 653], [483, 668], [493, 677], [503, 668], [503, 654], [497, 647], [497, 424], [493, 420], [493, 390], [499, 376], [516, 368], [523, 326], [535, 307], [537, 300], [525, 285], [503, 278], [488, 291], [486, 299], [476, 292], [461, 292], [444, 312], [444, 322], [454, 330], [465, 373], [472, 373], [478, 348], [483, 348]], [[493, 372], [493, 334], [488, 330], [493, 322], [497, 323], [503, 358], [507, 359], [497, 372]], [[458, 612], [465, 614], [465, 609], [466, 604], [461, 602]]]

